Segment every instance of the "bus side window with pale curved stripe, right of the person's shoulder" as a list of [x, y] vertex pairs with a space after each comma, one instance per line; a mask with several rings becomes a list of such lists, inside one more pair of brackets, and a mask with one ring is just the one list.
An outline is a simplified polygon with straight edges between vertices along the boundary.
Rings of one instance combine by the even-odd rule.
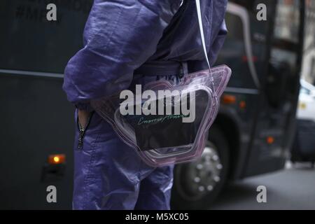
[[[268, 21], [258, 21], [257, 5], [269, 1], [232, 0], [225, 21], [228, 36], [218, 55], [217, 64], [228, 64], [232, 69], [229, 87], [258, 89], [265, 79]], [[267, 14], [270, 14], [267, 11]], [[268, 15], [272, 16], [272, 15]]]

